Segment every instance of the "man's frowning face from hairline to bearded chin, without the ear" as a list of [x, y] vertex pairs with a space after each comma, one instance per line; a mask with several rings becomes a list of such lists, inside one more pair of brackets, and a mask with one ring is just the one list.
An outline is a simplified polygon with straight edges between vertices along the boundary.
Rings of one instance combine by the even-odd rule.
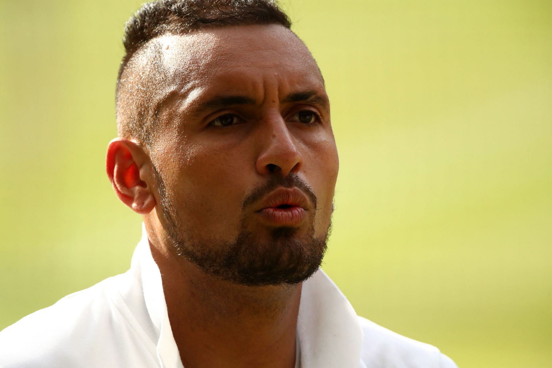
[[279, 25], [159, 39], [167, 85], [151, 155], [169, 245], [244, 285], [320, 266], [338, 157], [320, 72]]

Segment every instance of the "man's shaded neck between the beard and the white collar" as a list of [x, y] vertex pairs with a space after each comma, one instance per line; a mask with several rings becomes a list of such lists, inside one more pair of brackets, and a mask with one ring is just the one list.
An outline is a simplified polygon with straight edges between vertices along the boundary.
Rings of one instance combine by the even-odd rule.
[[301, 285], [242, 286], [150, 244], [186, 368], [293, 368]]

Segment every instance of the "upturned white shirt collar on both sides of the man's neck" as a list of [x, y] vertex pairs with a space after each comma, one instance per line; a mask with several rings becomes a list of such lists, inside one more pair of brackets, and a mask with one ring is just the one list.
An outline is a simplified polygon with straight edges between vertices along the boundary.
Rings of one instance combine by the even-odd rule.
[[[131, 269], [141, 281], [147, 313], [158, 337], [161, 367], [183, 368], [168, 319], [161, 273], [153, 260], [144, 224]], [[303, 283], [297, 331], [301, 368], [359, 366], [362, 329], [357, 314], [322, 270]]]

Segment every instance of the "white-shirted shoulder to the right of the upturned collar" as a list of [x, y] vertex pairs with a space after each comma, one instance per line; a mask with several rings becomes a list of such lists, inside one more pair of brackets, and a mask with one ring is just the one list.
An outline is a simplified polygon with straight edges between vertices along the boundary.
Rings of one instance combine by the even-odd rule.
[[435, 346], [412, 340], [358, 317], [363, 332], [362, 360], [367, 368], [457, 368]]

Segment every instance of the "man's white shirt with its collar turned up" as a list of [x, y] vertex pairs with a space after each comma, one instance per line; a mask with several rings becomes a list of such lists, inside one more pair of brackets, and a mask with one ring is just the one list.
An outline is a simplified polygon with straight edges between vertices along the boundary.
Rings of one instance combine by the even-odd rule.
[[[0, 367], [183, 368], [142, 228], [129, 271], [2, 330]], [[322, 270], [302, 287], [297, 325], [296, 367], [457, 367], [437, 348], [358, 317]]]

